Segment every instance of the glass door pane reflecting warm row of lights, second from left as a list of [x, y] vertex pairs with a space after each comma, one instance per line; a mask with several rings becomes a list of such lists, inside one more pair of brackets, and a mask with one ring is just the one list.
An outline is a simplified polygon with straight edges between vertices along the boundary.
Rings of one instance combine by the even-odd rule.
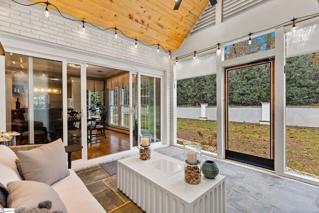
[[62, 62], [43, 58], [33, 61], [34, 142], [62, 138]]

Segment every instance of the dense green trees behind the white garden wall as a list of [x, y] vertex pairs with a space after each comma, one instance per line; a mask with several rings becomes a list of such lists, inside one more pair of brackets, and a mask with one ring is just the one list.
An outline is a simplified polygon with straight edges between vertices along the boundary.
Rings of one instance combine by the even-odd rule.
[[[229, 105], [261, 106], [261, 102], [270, 101], [270, 63], [230, 70], [227, 78]], [[216, 75], [177, 81], [178, 106], [200, 103], [216, 106]], [[286, 104], [319, 106], [318, 53], [286, 59]]]

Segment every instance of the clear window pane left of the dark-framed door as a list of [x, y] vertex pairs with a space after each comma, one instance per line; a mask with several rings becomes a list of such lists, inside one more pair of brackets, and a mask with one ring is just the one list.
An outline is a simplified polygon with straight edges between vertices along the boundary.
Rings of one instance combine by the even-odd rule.
[[216, 75], [177, 81], [177, 143], [216, 153], [216, 115]]

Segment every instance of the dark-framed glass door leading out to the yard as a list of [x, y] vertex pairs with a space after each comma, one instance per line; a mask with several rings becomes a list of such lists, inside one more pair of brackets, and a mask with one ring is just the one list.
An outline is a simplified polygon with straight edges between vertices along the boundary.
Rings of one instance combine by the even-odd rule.
[[272, 64], [225, 69], [226, 158], [267, 169], [273, 169]]

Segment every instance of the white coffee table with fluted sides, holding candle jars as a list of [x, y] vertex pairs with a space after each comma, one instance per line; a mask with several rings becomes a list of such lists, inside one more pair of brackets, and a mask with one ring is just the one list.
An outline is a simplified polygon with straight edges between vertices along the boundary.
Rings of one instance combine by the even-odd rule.
[[118, 188], [148, 213], [224, 213], [225, 177], [190, 185], [184, 182], [184, 162], [152, 151], [118, 160]]

